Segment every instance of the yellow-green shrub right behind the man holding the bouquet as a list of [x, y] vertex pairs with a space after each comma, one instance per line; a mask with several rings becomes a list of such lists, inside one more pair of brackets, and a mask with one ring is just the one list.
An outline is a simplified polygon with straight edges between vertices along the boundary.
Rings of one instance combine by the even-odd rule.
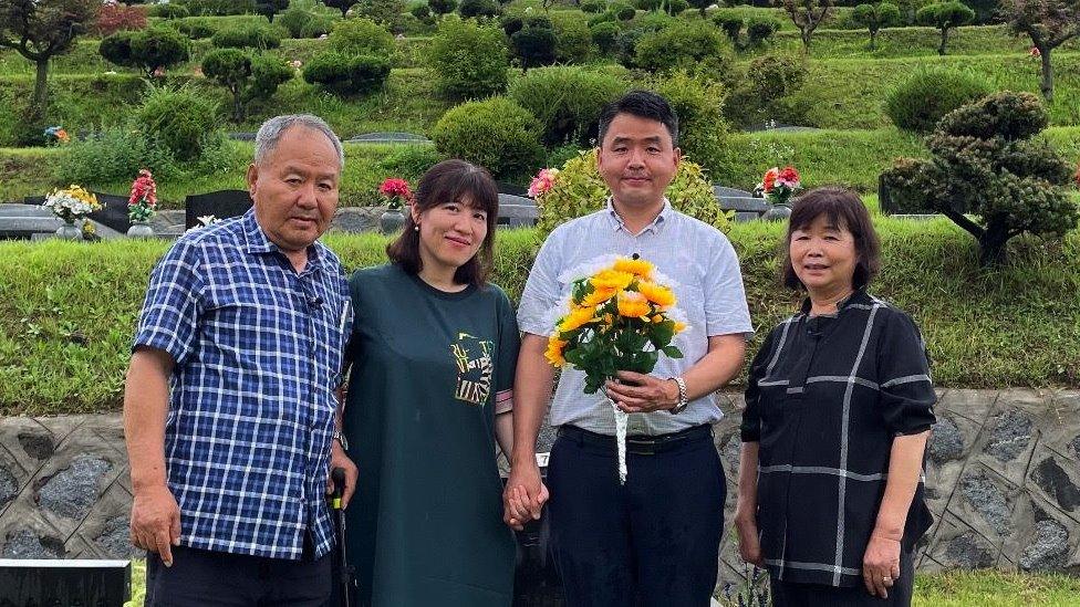
[[[679, 211], [724, 231], [730, 228], [729, 214], [720, 210], [713, 195], [713, 184], [696, 163], [683, 160], [678, 164], [666, 193]], [[595, 212], [604, 208], [610, 195], [611, 190], [596, 168], [595, 148], [582, 150], [567, 160], [552, 188], [541, 198], [537, 229], [547, 233], [569, 219]]]

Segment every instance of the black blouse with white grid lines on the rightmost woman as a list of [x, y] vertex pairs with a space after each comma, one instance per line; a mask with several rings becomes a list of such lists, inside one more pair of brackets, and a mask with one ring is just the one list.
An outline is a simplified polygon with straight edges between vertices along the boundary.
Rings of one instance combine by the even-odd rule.
[[[838, 313], [802, 310], [773, 328], [750, 367], [742, 441], [759, 442], [758, 530], [772, 576], [856, 586], [885, 492], [893, 437], [934, 423], [918, 328], [856, 291]], [[902, 548], [933, 515], [920, 480]]]

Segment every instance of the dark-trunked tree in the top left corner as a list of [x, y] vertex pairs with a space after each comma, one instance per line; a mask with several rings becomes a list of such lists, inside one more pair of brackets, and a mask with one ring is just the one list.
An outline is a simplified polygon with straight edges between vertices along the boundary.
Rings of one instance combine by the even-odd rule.
[[0, 48], [14, 49], [37, 66], [31, 114], [41, 116], [49, 98], [49, 61], [69, 51], [97, 17], [101, 0], [2, 0]]

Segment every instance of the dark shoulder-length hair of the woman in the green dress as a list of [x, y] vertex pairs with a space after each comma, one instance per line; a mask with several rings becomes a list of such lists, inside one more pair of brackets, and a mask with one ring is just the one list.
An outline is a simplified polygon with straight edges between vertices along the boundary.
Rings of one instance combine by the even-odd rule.
[[[443, 160], [420, 177], [413, 207], [417, 212], [424, 212], [446, 202], [468, 205], [488, 216], [488, 233], [484, 237], [480, 250], [454, 273], [454, 282], [458, 284], [482, 286], [491, 274], [495, 222], [499, 218], [499, 189], [491, 175], [482, 167], [465, 160]], [[405, 213], [405, 231], [386, 245], [386, 255], [409, 274], [416, 274], [424, 268], [420, 259], [420, 234], [416, 231], [413, 213]]]

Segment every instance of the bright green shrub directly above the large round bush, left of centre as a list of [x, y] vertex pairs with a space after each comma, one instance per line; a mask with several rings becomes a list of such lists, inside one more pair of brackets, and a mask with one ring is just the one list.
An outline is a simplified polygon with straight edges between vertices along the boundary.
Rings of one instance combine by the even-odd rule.
[[432, 39], [428, 62], [444, 96], [478, 98], [506, 90], [510, 60], [502, 30], [447, 18]]

